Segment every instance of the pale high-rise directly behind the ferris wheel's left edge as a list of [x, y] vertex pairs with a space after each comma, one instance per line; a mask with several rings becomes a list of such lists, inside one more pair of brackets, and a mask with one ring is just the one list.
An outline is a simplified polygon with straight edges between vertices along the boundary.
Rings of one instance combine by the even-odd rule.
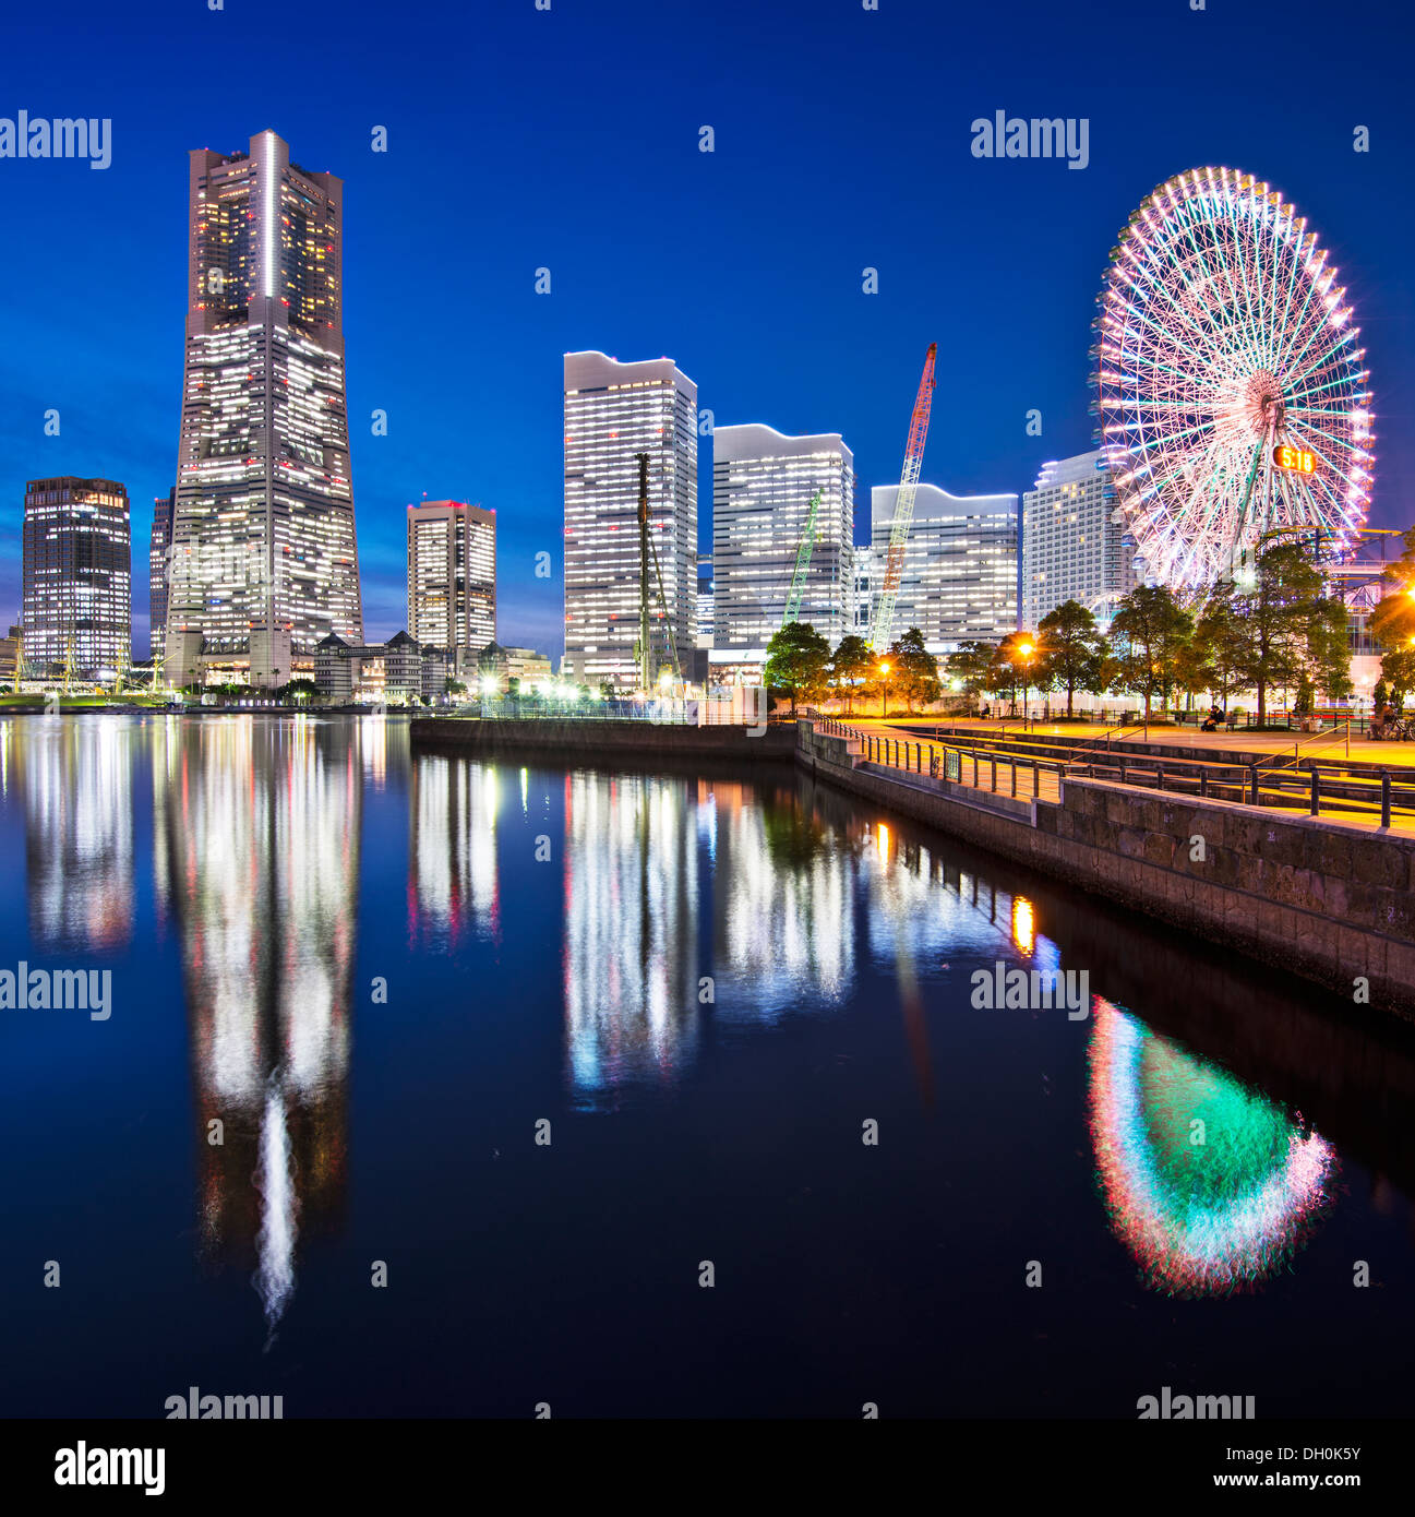
[[1022, 496], [1022, 627], [1066, 601], [1110, 619], [1119, 596], [1142, 579], [1134, 543], [1115, 519], [1115, 487], [1104, 455], [1077, 454], [1042, 466]]

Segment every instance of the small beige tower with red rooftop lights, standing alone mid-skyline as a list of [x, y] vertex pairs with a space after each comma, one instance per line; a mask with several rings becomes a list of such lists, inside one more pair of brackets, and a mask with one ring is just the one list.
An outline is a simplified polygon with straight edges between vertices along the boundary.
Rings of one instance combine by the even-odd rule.
[[461, 501], [408, 507], [408, 631], [434, 648], [496, 642], [496, 513]]

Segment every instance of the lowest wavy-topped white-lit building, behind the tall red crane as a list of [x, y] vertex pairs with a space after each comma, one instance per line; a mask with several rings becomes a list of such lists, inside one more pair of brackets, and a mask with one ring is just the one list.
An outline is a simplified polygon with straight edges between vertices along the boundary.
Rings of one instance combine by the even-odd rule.
[[[871, 492], [875, 561], [889, 557], [896, 484]], [[918, 627], [931, 654], [1001, 642], [1018, 628], [1018, 498], [949, 495], [921, 484], [904, 546], [895, 636]], [[861, 634], [863, 636], [863, 634]]]

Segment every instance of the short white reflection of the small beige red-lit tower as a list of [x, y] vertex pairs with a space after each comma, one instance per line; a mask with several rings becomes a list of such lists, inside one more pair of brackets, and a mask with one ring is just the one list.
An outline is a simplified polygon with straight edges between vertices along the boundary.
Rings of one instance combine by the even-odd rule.
[[469, 925], [478, 938], [499, 939], [499, 806], [500, 783], [490, 765], [431, 754], [413, 763], [408, 938], [414, 947], [453, 947]]

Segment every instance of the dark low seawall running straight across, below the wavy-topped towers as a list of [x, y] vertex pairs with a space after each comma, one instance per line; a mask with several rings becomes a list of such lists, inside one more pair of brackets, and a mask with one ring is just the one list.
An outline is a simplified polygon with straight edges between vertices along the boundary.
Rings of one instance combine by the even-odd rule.
[[464, 716], [420, 716], [409, 727], [414, 748], [469, 754], [554, 754], [576, 758], [622, 758], [642, 766], [654, 758], [733, 758], [743, 763], [790, 763], [796, 728], [767, 727], [752, 736], [743, 727], [672, 727], [658, 722], [478, 721]]

